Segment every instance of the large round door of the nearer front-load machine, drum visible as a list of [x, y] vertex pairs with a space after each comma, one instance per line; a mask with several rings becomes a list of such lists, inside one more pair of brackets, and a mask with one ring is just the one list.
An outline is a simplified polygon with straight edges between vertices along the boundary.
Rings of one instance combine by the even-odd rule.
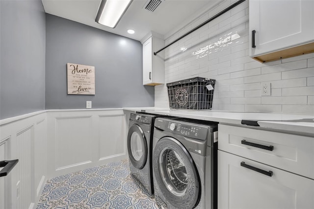
[[154, 149], [155, 182], [175, 208], [193, 209], [201, 196], [196, 166], [184, 146], [172, 137], [160, 139]]

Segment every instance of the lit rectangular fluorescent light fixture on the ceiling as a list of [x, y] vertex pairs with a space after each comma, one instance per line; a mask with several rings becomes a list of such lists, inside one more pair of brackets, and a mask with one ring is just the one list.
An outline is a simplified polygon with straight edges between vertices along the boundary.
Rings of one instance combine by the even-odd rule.
[[127, 11], [132, 0], [102, 0], [95, 21], [115, 28]]

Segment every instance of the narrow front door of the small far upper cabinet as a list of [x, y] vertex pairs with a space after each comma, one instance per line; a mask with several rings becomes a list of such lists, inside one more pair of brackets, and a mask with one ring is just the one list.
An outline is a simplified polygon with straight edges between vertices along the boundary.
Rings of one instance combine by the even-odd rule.
[[143, 85], [152, 82], [153, 66], [153, 38], [143, 43]]

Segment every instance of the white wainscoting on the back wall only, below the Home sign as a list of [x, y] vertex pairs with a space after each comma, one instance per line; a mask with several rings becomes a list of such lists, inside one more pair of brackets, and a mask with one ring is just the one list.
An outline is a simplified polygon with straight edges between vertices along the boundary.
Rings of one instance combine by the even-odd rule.
[[122, 109], [49, 110], [48, 177], [127, 158]]

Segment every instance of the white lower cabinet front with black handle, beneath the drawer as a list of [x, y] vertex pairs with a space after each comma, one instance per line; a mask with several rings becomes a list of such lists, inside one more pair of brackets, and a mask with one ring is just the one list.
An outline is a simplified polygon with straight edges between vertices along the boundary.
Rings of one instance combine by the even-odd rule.
[[218, 150], [218, 209], [313, 208], [314, 180]]

